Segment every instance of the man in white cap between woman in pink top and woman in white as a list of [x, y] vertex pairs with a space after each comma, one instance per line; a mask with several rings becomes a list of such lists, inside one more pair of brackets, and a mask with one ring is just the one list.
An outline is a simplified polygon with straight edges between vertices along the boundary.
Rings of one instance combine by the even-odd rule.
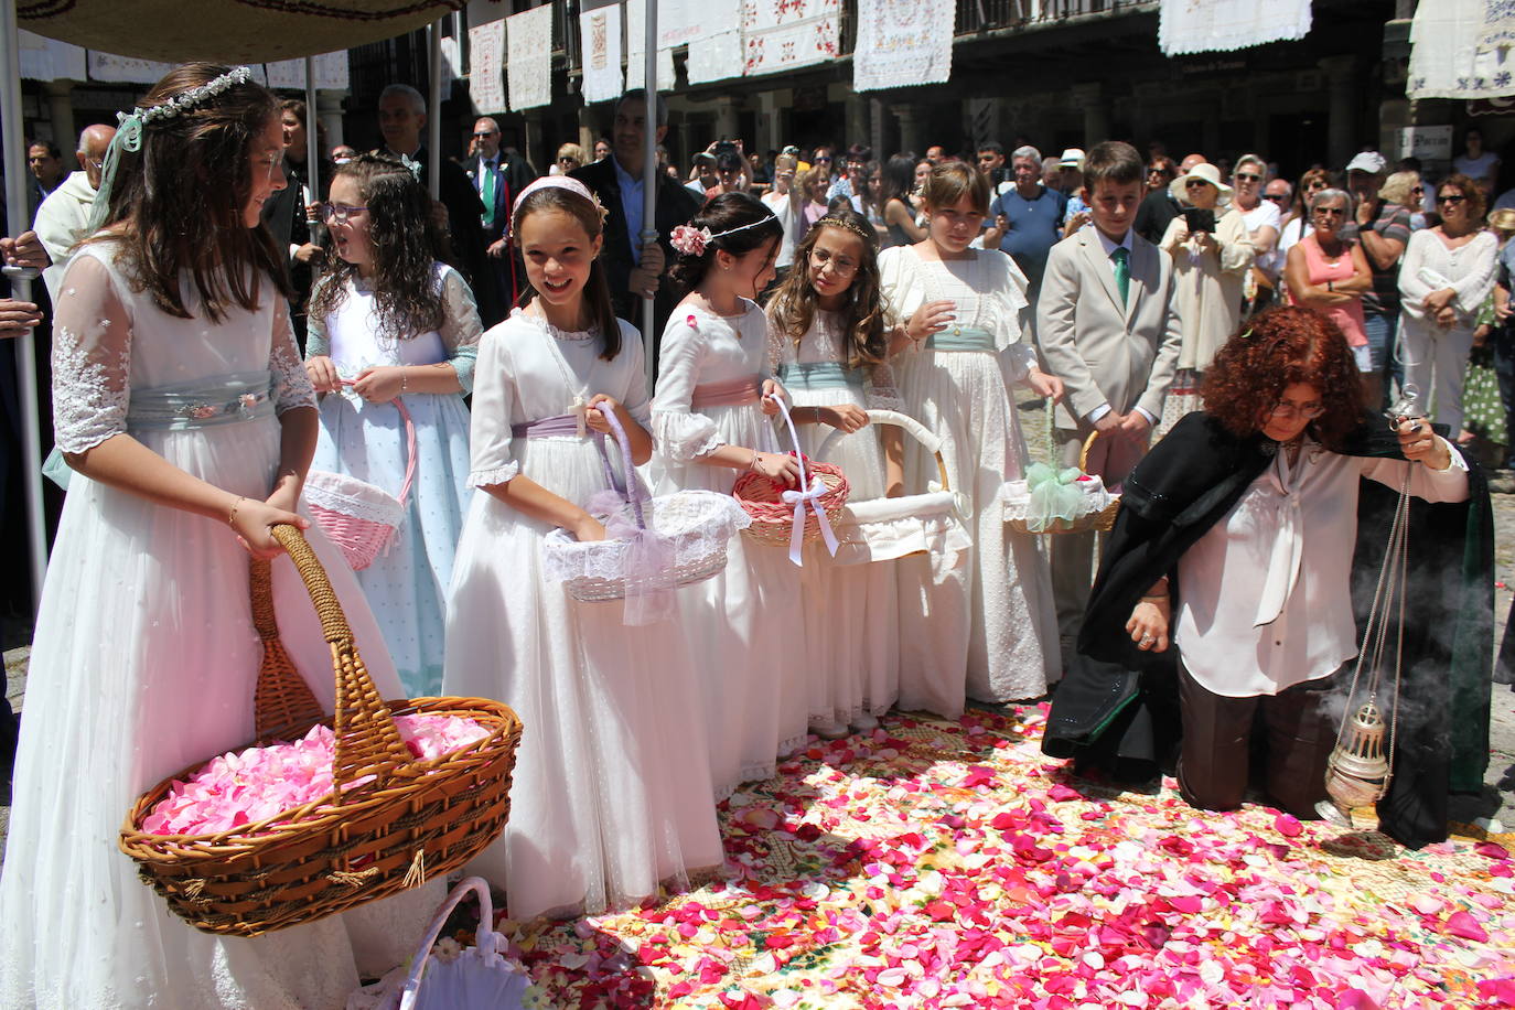
[[1373, 271], [1373, 289], [1362, 295], [1364, 332], [1373, 354], [1374, 379], [1389, 392], [1389, 348], [1400, 324], [1400, 256], [1410, 241], [1410, 212], [1397, 203], [1379, 198], [1388, 161], [1379, 151], [1360, 151], [1347, 162], [1347, 192], [1357, 204], [1354, 221], [1341, 230], [1347, 241], [1362, 245]]

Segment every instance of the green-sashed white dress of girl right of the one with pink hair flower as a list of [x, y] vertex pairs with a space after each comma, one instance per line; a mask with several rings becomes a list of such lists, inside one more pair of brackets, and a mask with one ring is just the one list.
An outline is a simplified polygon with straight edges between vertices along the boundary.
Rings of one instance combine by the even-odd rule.
[[[770, 330], [774, 374], [803, 418], [806, 407], [851, 404], [901, 410], [888, 365], [847, 366], [847, 333], [841, 313], [817, 310], [795, 341]], [[815, 456], [836, 432], [827, 424], [797, 426], [806, 456]], [[871, 501], [885, 492], [880, 429], [836, 435], [818, 459], [841, 468], [848, 501]], [[838, 565], [823, 544], [806, 545], [803, 581], [804, 636], [812, 666], [811, 719], [817, 728], [859, 722], [889, 710], [900, 689], [898, 603], [894, 562]]]

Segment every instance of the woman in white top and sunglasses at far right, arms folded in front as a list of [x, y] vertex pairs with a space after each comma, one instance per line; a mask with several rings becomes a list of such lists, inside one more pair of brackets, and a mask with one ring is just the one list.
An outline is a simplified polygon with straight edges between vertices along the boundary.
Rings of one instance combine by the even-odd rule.
[[1400, 353], [1418, 407], [1462, 432], [1462, 379], [1479, 309], [1494, 289], [1500, 244], [1482, 230], [1483, 192], [1467, 176], [1436, 186], [1441, 224], [1410, 235], [1400, 263]]

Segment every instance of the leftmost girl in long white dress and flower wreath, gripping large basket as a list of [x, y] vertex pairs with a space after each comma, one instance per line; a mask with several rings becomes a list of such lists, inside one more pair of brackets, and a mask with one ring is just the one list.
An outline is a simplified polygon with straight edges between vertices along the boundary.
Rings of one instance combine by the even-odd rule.
[[[405, 957], [436, 887], [217, 937], [171, 916], [117, 848], [138, 795], [255, 736], [247, 556], [280, 553], [271, 525], [306, 530], [370, 675], [400, 687], [341, 554], [297, 513], [317, 413], [259, 227], [283, 186], [276, 98], [247, 68], [189, 64], [144, 106], [106, 156], [108, 227], [58, 303], [53, 409], [74, 477], [32, 642], [0, 1005], [341, 1007], [359, 972]], [[286, 560], [273, 574], [280, 637], [330, 710], [309, 595]]]

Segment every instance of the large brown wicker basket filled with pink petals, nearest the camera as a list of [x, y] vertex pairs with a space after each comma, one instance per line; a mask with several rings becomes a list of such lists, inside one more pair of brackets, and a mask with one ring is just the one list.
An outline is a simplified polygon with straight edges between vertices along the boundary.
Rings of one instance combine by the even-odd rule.
[[[174, 780], [194, 775], [201, 762], [142, 793], [120, 839], [121, 851], [136, 860], [142, 880], [174, 915], [223, 936], [258, 936], [321, 919], [462, 866], [504, 828], [521, 739], [520, 719], [497, 701], [380, 700], [315, 551], [294, 527], [279, 525], [273, 533], [305, 580], [332, 647], [336, 715], [323, 716], [279, 641], [270, 562], [255, 560], [253, 624], [264, 641], [256, 742], [298, 739], [317, 722], [333, 725], [336, 790], [235, 831], [142, 831], [142, 818]], [[392, 718], [414, 712], [473, 719], [488, 736], [450, 754], [415, 760]]]

